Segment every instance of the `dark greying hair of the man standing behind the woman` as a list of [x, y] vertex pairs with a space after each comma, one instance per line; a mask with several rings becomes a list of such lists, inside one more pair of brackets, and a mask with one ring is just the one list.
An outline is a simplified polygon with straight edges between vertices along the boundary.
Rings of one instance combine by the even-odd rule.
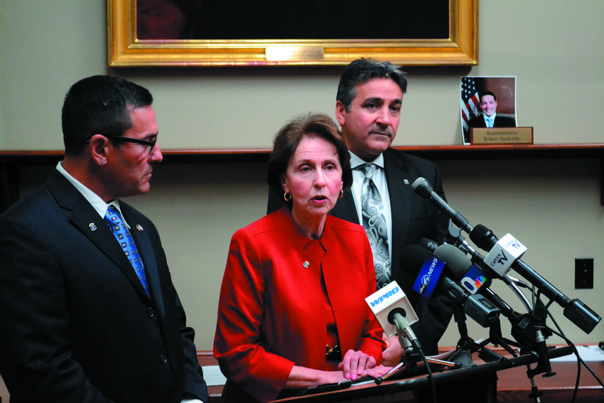
[[372, 58], [360, 58], [347, 65], [342, 73], [335, 100], [342, 102], [346, 112], [350, 112], [352, 100], [357, 96], [355, 92], [357, 85], [372, 78], [389, 78], [397, 83], [403, 94], [407, 90], [406, 73], [399, 66], [389, 62], [378, 62]]

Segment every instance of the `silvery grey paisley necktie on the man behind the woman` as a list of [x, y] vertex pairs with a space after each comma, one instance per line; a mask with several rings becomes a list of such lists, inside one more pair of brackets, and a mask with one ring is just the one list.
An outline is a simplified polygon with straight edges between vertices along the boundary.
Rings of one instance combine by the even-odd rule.
[[384, 204], [372, 179], [377, 166], [373, 163], [366, 163], [358, 168], [365, 173], [361, 192], [362, 224], [373, 252], [377, 289], [381, 289], [390, 282], [392, 262], [388, 247]]

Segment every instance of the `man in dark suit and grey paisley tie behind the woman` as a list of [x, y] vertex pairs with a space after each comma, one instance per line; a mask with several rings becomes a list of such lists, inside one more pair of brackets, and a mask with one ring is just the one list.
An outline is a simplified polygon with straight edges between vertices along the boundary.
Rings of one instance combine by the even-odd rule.
[[[382, 195], [389, 248], [389, 262], [384, 265], [384, 270], [377, 269], [376, 276], [378, 282], [380, 278], [383, 283], [395, 280], [401, 286], [419, 316], [419, 322], [412, 328], [424, 352], [436, 355], [438, 340], [453, 315], [451, 303], [444, 296], [433, 297], [430, 302], [419, 298], [413, 290], [415, 279], [400, 269], [399, 257], [405, 247], [416, 244], [422, 237], [442, 242], [449, 219], [428, 200], [416, 195], [411, 187], [421, 176], [445, 199], [436, 164], [390, 148], [397, 135], [404, 92], [405, 73], [387, 62], [355, 60], [340, 77], [335, 117], [350, 151], [354, 183], [352, 189], [335, 204], [332, 214], [362, 224], [361, 198], [365, 175], [360, 168], [365, 163], [375, 163], [379, 168], [373, 179]], [[269, 212], [279, 208], [276, 199], [275, 195], [269, 195]], [[384, 365], [395, 365], [402, 353], [397, 336], [394, 336], [384, 351]]]

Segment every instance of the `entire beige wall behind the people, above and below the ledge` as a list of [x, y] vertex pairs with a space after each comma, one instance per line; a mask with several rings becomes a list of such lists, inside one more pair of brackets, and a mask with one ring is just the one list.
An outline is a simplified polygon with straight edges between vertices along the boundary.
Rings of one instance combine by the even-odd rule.
[[[517, 76], [517, 119], [536, 143], [603, 143], [604, 2], [483, 0], [480, 65], [409, 68], [397, 145], [460, 144], [462, 75]], [[333, 116], [342, 68], [126, 68], [107, 65], [102, 1], [0, 1], [0, 149], [62, 149], [60, 106], [81, 77], [113, 74], [148, 87], [166, 148], [266, 147], [301, 112]], [[604, 314], [600, 162], [437, 161], [453, 208], [529, 248], [524, 261]], [[23, 171], [23, 192], [49, 167]], [[229, 240], [264, 214], [264, 163], [158, 166], [149, 195], [129, 200], [156, 222], [198, 336], [212, 348]], [[595, 258], [595, 288], [573, 289], [574, 259]], [[513, 296], [495, 284], [508, 302]], [[518, 306], [519, 309], [519, 306]], [[576, 343], [604, 340], [551, 309]], [[487, 337], [473, 323], [470, 336]], [[502, 323], [509, 335], [509, 325]], [[443, 345], [455, 345], [454, 324]], [[552, 341], [559, 341], [551, 338]]]

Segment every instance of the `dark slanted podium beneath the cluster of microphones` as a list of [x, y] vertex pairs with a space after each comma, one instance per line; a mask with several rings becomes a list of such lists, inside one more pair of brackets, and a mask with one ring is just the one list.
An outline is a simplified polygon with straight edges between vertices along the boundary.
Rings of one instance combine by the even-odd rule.
[[[572, 349], [568, 346], [549, 350], [550, 359], [570, 354], [572, 354]], [[448, 399], [455, 397], [456, 401], [496, 402], [497, 372], [522, 365], [530, 365], [537, 362], [537, 360], [536, 355], [527, 354], [497, 362], [484, 362], [473, 367], [434, 373], [433, 380], [439, 394], [448, 396]], [[529, 382], [528, 379], [526, 381]], [[376, 385], [374, 382], [365, 385], [352, 385], [352, 387], [343, 390], [280, 399], [274, 403], [416, 402], [413, 391], [416, 390], [422, 395], [429, 396], [426, 393], [429, 391], [429, 387], [427, 375], [419, 375], [403, 380], [387, 380], [381, 385]], [[460, 394], [465, 394], [470, 400], [464, 399]], [[446, 401], [439, 397], [438, 401], [441, 400]], [[527, 402], [529, 401], [531, 400], [527, 400]]]

